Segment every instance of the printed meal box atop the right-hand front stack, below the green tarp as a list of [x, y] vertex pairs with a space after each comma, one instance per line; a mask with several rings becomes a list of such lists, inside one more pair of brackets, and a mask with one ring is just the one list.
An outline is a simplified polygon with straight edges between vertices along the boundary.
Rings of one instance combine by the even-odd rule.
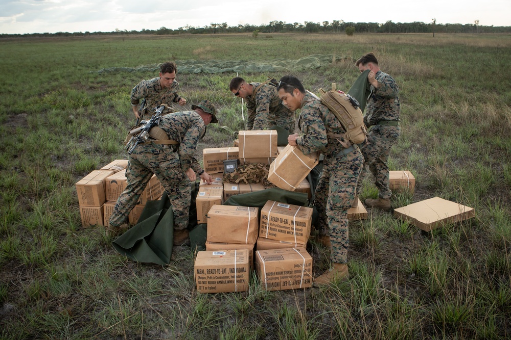
[[268, 201], [261, 209], [259, 236], [306, 245], [311, 223], [312, 208]]

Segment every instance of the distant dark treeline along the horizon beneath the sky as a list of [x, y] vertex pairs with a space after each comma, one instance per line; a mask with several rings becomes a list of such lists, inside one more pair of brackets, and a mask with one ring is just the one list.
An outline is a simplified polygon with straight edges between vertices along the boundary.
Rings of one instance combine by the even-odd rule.
[[137, 35], [137, 34], [216, 34], [216, 33], [250, 33], [259, 31], [261, 33], [345, 33], [346, 29], [355, 28], [355, 33], [511, 33], [510, 26], [483, 26], [479, 25], [479, 20], [474, 20], [473, 24], [466, 23], [424, 23], [424, 22], [344, 22], [343, 20], [333, 20], [332, 22], [312, 22], [304, 23], [283, 21], [270, 21], [268, 24], [261, 25], [237, 25], [228, 26], [226, 22], [211, 23], [204, 27], [185, 26], [177, 30], [161, 27], [158, 30], [127, 31], [116, 29], [112, 32], [57, 32], [57, 33], [26, 33], [26, 34], [0, 34], [0, 38], [12, 37], [73, 37], [73, 36], [97, 36], [97, 35]]

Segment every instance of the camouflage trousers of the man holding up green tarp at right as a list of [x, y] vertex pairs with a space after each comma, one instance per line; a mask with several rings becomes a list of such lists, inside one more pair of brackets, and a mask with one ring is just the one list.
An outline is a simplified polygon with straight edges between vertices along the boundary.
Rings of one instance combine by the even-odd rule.
[[[364, 165], [375, 176], [375, 185], [378, 188], [380, 198], [390, 199], [392, 192], [388, 179], [388, 155], [392, 145], [396, 144], [401, 133], [400, 126], [373, 125], [367, 134], [367, 143], [362, 147]], [[360, 178], [362, 182], [362, 178]], [[361, 186], [357, 187], [357, 195], [360, 194]]]

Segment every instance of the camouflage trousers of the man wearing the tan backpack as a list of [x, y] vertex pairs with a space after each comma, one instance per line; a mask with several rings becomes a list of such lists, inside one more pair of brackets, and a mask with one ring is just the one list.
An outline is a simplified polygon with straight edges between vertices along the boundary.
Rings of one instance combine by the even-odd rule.
[[319, 219], [319, 235], [330, 235], [333, 263], [346, 263], [349, 246], [347, 211], [355, 199], [357, 180], [362, 171], [363, 157], [355, 151], [324, 159], [315, 196]]

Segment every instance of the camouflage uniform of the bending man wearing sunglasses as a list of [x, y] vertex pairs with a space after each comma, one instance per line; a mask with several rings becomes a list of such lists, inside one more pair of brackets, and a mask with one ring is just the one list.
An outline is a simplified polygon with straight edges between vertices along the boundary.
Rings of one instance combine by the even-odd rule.
[[286, 108], [278, 98], [277, 89], [265, 84], [255, 91], [261, 83], [250, 83], [254, 94], [245, 98], [248, 110], [248, 129], [264, 130], [273, 125], [281, 126], [294, 133], [294, 112]]

